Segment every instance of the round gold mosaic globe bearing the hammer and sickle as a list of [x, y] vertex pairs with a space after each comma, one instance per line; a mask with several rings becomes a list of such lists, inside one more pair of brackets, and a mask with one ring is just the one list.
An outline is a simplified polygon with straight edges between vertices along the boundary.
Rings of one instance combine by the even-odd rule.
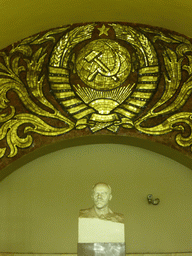
[[116, 41], [98, 39], [84, 46], [76, 59], [80, 79], [95, 90], [112, 90], [120, 86], [131, 70], [128, 50]]

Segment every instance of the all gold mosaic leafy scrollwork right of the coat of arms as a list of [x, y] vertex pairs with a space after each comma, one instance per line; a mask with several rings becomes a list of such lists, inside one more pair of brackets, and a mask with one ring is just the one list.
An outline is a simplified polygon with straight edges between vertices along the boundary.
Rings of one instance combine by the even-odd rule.
[[[153, 127], [142, 127], [141, 125], [142, 122], [150, 118], [178, 111], [187, 102], [192, 93], [191, 55], [186, 55], [186, 53], [190, 53], [192, 50], [190, 41], [181, 36], [172, 35], [171, 38], [168, 39], [163, 33], [160, 35], [162, 37], [155, 36], [154, 41], [163, 40], [168, 43], [177, 43], [178, 46], [175, 52], [168, 47], [164, 50], [163, 58], [166, 70], [163, 73], [165, 79], [164, 93], [146, 115], [136, 120], [135, 128], [143, 133], [152, 135], [163, 135], [174, 130], [181, 131], [181, 133], [176, 135], [177, 144], [182, 147], [190, 146], [192, 148], [192, 112], [172, 114], [164, 122]], [[182, 65], [184, 58], [188, 59], [188, 65]], [[182, 70], [188, 72], [188, 78], [181, 86]], [[179, 88], [179, 86], [181, 87]], [[166, 104], [170, 99], [173, 99], [171, 103]], [[160, 106], [165, 107], [157, 111]], [[182, 136], [182, 132], [185, 130], [184, 124], [188, 125], [190, 128], [188, 137]]]

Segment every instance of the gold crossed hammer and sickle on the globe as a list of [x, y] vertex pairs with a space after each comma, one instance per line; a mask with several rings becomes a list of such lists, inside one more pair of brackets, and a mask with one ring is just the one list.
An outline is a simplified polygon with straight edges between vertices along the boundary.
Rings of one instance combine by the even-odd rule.
[[86, 61], [87, 62], [96, 62], [98, 64], [98, 68], [88, 76], [88, 81], [92, 81], [94, 80], [94, 78], [96, 77], [96, 75], [98, 73], [100, 73], [103, 76], [107, 76], [107, 77], [112, 77], [112, 79], [114, 81], [118, 81], [118, 77], [116, 76], [117, 72], [119, 71], [120, 68], [120, 59], [118, 54], [115, 52], [115, 64], [112, 70], [110, 70], [100, 59], [99, 56], [102, 55], [102, 52], [98, 52], [98, 51], [92, 51], [90, 52], [86, 57]]

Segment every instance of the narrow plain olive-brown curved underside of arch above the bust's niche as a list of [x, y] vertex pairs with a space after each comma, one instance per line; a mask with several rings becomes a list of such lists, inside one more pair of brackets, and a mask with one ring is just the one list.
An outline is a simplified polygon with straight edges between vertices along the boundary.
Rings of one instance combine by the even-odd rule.
[[129, 136], [88, 136], [88, 137], [78, 137], [66, 141], [57, 142], [54, 144], [50, 144], [46, 147], [39, 148], [27, 154], [26, 156], [19, 158], [17, 161], [7, 165], [5, 168], [1, 170], [0, 180], [3, 180], [5, 177], [10, 175], [12, 172], [16, 171], [21, 166], [33, 161], [41, 156], [59, 151], [64, 148], [76, 147], [81, 145], [92, 145], [92, 144], [121, 144], [121, 145], [129, 145], [134, 147], [143, 148], [163, 156], [166, 156], [176, 162], [179, 162], [183, 166], [191, 169], [192, 160], [187, 157], [185, 154], [172, 149], [171, 147], [167, 147], [162, 145], [161, 143], [152, 142], [150, 140], [144, 140], [135, 137]]

